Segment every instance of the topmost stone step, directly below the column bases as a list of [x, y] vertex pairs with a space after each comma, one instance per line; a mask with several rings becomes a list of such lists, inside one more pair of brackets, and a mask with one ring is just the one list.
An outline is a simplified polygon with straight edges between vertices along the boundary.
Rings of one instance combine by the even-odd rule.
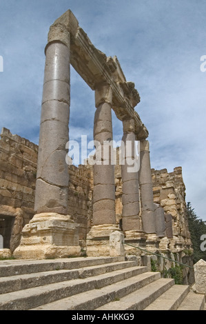
[[0, 261], [0, 277], [17, 274], [32, 274], [56, 270], [72, 270], [79, 267], [90, 267], [114, 262], [124, 262], [124, 256], [79, 257], [54, 260], [5, 260]]

